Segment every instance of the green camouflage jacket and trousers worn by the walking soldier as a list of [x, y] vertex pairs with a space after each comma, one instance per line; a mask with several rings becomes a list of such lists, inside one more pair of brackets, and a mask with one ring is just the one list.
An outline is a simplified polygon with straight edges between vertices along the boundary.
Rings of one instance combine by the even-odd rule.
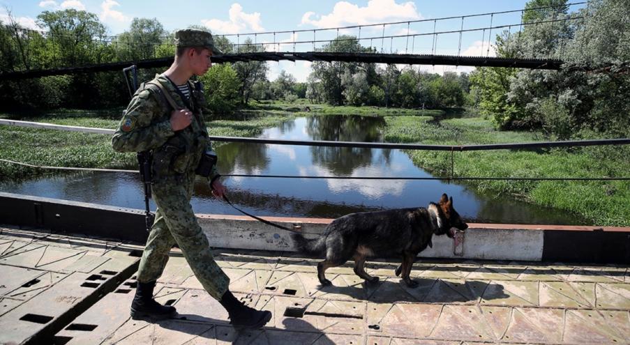
[[[185, 34], [186, 30], [178, 31], [181, 32]], [[199, 40], [192, 39], [193, 42]], [[170, 249], [177, 243], [204, 289], [220, 300], [230, 279], [214, 261], [208, 239], [190, 206], [195, 168], [204, 151], [211, 148], [201, 112], [203, 93], [188, 82], [191, 90], [189, 103], [193, 108], [189, 110], [194, 118], [188, 127], [176, 133], [170, 125], [173, 109], [159, 89], [152, 85], [155, 82], [167, 89], [180, 109], [188, 108], [172, 82], [158, 75], [136, 91], [112, 138], [116, 151], [153, 152], [151, 190], [158, 210], [144, 247], [137, 280], [141, 283], [156, 281], [163, 273]], [[214, 168], [209, 181], [216, 175]]]

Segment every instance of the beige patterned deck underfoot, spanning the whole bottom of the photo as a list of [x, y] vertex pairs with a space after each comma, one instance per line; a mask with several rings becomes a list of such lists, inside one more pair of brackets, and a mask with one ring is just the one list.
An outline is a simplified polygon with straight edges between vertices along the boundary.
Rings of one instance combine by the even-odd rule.
[[[103, 272], [119, 275], [124, 270], [116, 265], [123, 261], [135, 268], [137, 257], [129, 254], [141, 249], [40, 237], [0, 233], [0, 342], [24, 335], [16, 325], [40, 327], [45, 320], [36, 316], [57, 315], [38, 307], [40, 302], [57, 298], [72, 304], [63, 282], [81, 285], [100, 275], [92, 279], [105, 285]], [[349, 263], [329, 269], [334, 286], [322, 287], [314, 259], [242, 250], [216, 250], [216, 259], [237, 297], [273, 312], [267, 327], [236, 332], [173, 250], [156, 298], [175, 305], [177, 319], [130, 319], [132, 277], [66, 321], [54, 339], [57, 344], [630, 343], [630, 266], [423, 259], [412, 270], [420, 284], [410, 289], [393, 275], [395, 261], [368, 264], [368, 273], [380, 277], [377, 284], [364, 284]], [[36, 316], [19, 320], [29, 310]]]

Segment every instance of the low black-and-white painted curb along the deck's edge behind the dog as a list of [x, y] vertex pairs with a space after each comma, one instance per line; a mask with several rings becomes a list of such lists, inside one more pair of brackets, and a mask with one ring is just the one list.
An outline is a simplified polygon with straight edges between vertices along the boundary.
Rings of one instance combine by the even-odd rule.
[[[197, 215], [213, 247], [294, 251], [290, 233], [250, 217]], [[331, 220], [264, 217], [291, 228], [301, 225], [306, 238], [322, 233]], [[0, 224], [52, 229], [63, 233], [133, 240], [147, 239], [142, 210], [29, 197], [0, 192]], [[434, 236], [423, 257], [522, 261], [630, 262], [630, 228], [562, 225], [474, 224], [453, 239]], [[457, 250], [456, 250], [457, 249]], [[456, 252], [458, 254], [456, 254]]]

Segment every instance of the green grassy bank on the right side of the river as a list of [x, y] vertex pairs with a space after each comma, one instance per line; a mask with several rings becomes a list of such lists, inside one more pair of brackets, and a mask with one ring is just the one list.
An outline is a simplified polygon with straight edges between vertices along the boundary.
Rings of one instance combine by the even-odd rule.
[[[497, 131], [483, 118], [452, 118], [441, 123], [426, 116], [389, 116], [384, 137], [421, 144], [500, 144], [541, 141], [535, 132]], [[407, 151], [414, 164], [434, 176], [451, 174], [451, 153]], [[465, 151], [453, 155], [459, 177], [628, 177], [628, 146], [532, 150]], [[582, 215], [593, 224], [630, 225], [629, 181], [466, 181], [484, 194], [517, 199]]]

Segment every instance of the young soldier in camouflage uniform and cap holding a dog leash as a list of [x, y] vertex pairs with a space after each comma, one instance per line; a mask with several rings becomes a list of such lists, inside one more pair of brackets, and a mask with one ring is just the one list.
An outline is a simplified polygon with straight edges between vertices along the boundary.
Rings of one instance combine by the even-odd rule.
[[[177, 243], [204, 289], [225, 307], [232, 325], [260, 328], [271, 319], [271, 312], [247, 307], [232, 295], [230, 279], [214, 261], [190, 206], [195, 172], [207, 178], [215, 197], [226, 192], [216, 166], [204, 164], [212, 158], [207, 155], [211, 143], [201, 111], [204, 95], [201, 84], [189, 80], [207, 72], [212, 54], [222, 53], [206, 31], [177, 31], [175, 42], [174, 63], [135, 92], [112, 138], [116, 151], [153, 154], [151, 191], [158, 210], [138, 268], [131, 316], [167, 319], [176, 314], [174, 307], [153, 299], [153, 288]], [[206, 171], [200, 172], [202, 168]]]

